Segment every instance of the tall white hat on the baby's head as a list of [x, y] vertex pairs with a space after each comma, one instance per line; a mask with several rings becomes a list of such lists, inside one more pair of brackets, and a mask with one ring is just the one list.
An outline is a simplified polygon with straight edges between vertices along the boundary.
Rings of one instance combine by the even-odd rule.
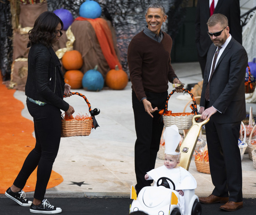
[[168, 126], [164, 131], [164, 142], [165, 142], [165, 154], [168, 155], [179, 155], [179, 152], [175, 152], [178, 148], [180, 149], [181, 135], [176, 125]]

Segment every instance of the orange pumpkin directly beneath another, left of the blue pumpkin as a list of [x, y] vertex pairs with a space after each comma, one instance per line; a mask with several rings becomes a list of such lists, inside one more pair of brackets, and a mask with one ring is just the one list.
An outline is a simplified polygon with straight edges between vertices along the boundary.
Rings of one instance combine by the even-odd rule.
[[64, 74], [65, 83], [69, 84], [72, 89], [82, 88], [82, 79], [84, 73], [80, 70], [68, 70]]

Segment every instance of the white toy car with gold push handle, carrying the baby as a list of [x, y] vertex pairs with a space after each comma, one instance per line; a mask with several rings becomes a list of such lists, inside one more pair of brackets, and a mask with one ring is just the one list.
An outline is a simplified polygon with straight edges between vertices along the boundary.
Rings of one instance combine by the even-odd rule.
[[[179, 166], [188, 170], [195, 150], [195, 146], [201, 131], [201, 127], [205, 125], [209, 119], [197, 122], [200, 114], [193, 116], [192, 126], [188, 130], [181, 144], [181, 160]], [[171, 182], [171, 183], [168, 183]], [[171, 187], [170, 187], [171, 186]], [[170, 204], [172, 195], [178, 198], [178, 203]], [[183, 215], [201, 215], [202, 206], [195, 190], [184, 190], [185, 210]], [[175, 202], [175, 201], [173, 201]], [[176, 201], [177, 202], [177, 201]], [[180, 195], [175, 191], [174, 182], [167, 177], [161, 177], [157, 180], [157, 186], [146, 186], [141, 189], [136, 200], [133, 200], [130, 213], [133, 211], [143, 211], [149, 215], [182, 215], [180, 207]]]

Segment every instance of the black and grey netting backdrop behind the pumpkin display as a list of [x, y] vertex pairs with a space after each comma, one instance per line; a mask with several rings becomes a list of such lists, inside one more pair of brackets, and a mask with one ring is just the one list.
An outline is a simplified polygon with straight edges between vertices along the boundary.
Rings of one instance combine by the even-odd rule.
[[[95, 0], [102, 8], [102, 16], [110, 20], [116, 30], [117, 46], [123, 70], [129, 73], [127, 64], [127, 48], [131, 39], [146, 26], [145, 13], [147, 7], [155, 0]], [[69, 10], [73, 18], [79, 16], [79, 8], [84, 0], [48, 0], [48, 10], [64, 8]], [[162, 30], [175, 38], [186, 16], [188, 0], [158, 0], [165, 7], [167, 20]], [[0, 1], [0, 62], [4, 80], [10, 79], [12, 62], [12, 29], [10, 3]]]

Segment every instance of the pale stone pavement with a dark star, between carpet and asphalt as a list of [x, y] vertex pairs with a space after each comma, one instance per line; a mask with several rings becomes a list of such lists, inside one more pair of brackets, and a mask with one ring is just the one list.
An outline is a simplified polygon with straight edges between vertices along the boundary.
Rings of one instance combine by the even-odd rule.
[[[175, 63], [173, 68], [185, 84], [198, 83], [202, 80], [197, 62]], [[172, 89], [170, 86], [169, 92]], [[131, 103], [131, 83], [129, 82], [127, 87], [121, 91], [104, 88], [100, 92], [88, 92], [82, 89], [72, 90], [72, 92], [84, 94], [91, 103], [92, 109], [100, 109], [100, 114], [96, 116], [100, 127], [92, 130], [87, 137], [61, 139], [53, 170], [61, 174], [64, 181], [46, 190], [45, 197], [81, 197], [84, 195], [129, 197], [130, 186], [136, 184], [134, 173], [136, 133]], [[24, 92], [17, 91], [14, 96], [25, 104]], [[168, 110], [183, 112], [188, 100], [188, 95], [174, 93], [170, 98]], [[83, 98], [74, 95], [66, 98], [66, 101], [74, 107], [76, 113], [88, 113], [88, 107]], [[255, 104], [247, 104], [248, 111], [251, 105], [256, 110]], [[26, 105], [22, 115], [31, 119]], [[163, 160], [157, 159], [156, 167], [161, 165], [163, 165]], [[244, 155], [242, 165], [244, 197], [255, 198], [256, 169], [253, 167], [253, 162], [249, 160], [248, 154]], [[195, 193], [198, 196], [211, 194], [213, 190], [211, 176], [198, 172], [194, 160], [191, 161], [189, 172], [197, 181]], [[32, 197], [32, 195], [33, 193], [27, 193], [27, 196]], [[66, 201], [65, 204], [67, 204]]]

